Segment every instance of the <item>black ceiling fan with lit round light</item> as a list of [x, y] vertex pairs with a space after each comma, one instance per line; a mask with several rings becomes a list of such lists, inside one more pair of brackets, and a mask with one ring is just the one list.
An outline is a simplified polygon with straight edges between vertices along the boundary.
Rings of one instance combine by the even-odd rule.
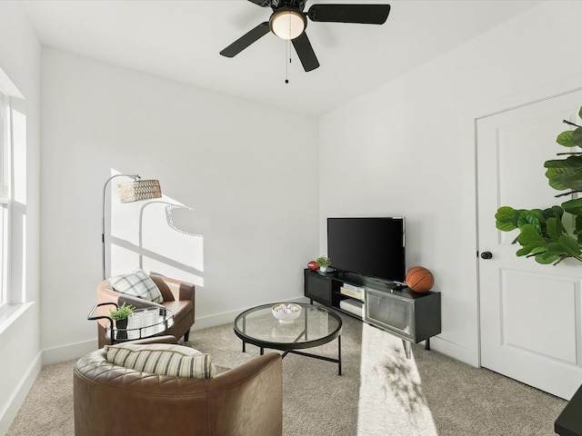
[[390, 12], [390, 5], [312, 5], [304, 12], [305, 0], [248, 1], [262, 7], [270, 6], [273, 14], [269, 21], [257, 25], [233, 44], [228, 45], [220, 54], [235, 57], [261, 37], [273, 32], [282, 39], [291, 40], [306, 71], [315, 70], [319, 66], [306, 35], [307, 17], [314, 22], [383, 25]]

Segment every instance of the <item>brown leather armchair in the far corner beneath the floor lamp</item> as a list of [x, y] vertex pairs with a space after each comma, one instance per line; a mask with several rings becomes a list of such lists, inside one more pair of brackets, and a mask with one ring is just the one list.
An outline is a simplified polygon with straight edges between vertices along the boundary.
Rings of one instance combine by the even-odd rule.
[[[113, 286], [108, 280], [104, 280], [97, 285], [97, 304], [102, 302], [115, 302], [118, 305], [122, 303], [131, 304], [136, 309], [148, 307], [166, 307], [174, 313], [174, 324], [168, 329], [167, 334], [181, 338], [188, 341], [190, 327], [194, 324], [194, 309], [195, 309], [195, 286], [192, 283], [180, 282], [176, 279], [164, 277], [161, 275], [150, 275], [156, 286], [162, 292], [164, 302], [158, 304], [156, 302], [148, 302], [146, 300], [126, 295], [124, 293], [115, 292]], [[104, 306], [103, 313], [108, 313], [112, 306]], [[105, 313], [106, 311], [106, 313]], [[108, 321], [101, 319], [97, 321], [97, 334], [99, 340], [99, 348], [109, 342], [105, 338], [105, 326]]]

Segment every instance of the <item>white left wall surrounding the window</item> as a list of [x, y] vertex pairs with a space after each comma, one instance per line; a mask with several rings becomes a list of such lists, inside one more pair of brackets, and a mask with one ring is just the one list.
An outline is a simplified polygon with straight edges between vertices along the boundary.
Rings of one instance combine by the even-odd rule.
[[[39, 342], [39, 179], [40, 45], [17, 2], [0, 2], [0, 68], [25, 99], [15, 103], [25, 115], [25, 180], [16, 186], [13, 228], [14, 281], [11, 292], [21, 304], [12, 316], [0, 316], [0, 434], [5, 434], [40, 368]], [[23, 120], [23, 116], [19, 116]], [[23, 224], [24, 223], [24, 224]], [[6, 312], [6, 311], [5, 311]], [[5, 315], [5, 312], [3, 314]]]

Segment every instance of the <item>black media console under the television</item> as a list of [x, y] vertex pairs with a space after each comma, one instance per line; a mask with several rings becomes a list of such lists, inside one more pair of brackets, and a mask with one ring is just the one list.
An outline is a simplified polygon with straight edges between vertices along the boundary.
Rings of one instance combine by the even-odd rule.
[[440, 292], [414, 292], [407, 287], [352, 272], [322, 274], [306, 269], [305, 295], [402, 339], [406, 357], [410, 344], [441, 332]]

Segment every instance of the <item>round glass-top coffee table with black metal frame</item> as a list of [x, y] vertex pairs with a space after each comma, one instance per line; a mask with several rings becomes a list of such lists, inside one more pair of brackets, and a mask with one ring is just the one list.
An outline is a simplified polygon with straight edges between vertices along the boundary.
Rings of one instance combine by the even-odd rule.
[[[253, 307], [236, 317], [234, 328], [236, 336], [246, 343], [261, 349], [266, 348], [287, 353], [300, 354], [327, 362], [337, 363], [337, 373], [342, 375], [342, 320], [336, 312], [325, 307], [304, 303], [293, 303], [301, 307], [301, 312], [292, 322], [280, 322], [273, 313], [275, 304]], [[313, 348], [337, 339], [337, 359], [319, 356], [298, 350]]]

